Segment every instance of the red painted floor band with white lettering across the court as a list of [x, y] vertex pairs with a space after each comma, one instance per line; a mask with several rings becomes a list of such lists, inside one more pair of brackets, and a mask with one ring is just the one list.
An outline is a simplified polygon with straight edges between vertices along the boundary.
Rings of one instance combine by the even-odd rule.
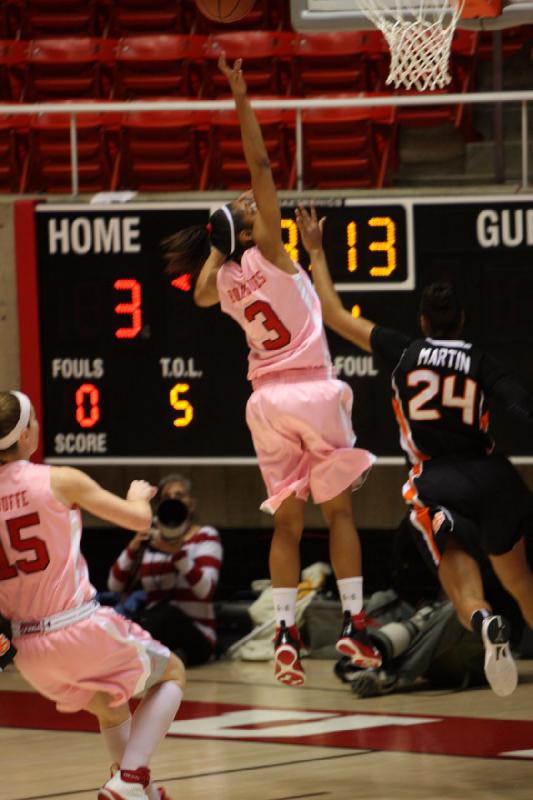
[[[49, 700], [30, 692], [0, 692], [0, 726], [97, 730], [89, 714], [60, 714]], [[185, 738], [533, 760], [533, 722], [524, 720], [323, 709], [294, 711], [185, 701], [173, 728], [176, 730], [171, 730], [170, 736]], [[272, 732], [275, 729], [276, 734], [269, 736], [269, 728]]]

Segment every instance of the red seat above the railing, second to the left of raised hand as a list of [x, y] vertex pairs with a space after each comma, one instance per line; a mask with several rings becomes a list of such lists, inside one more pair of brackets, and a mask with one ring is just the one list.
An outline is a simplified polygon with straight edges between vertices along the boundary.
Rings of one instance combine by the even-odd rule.
[[115, 45], [111, 39], [35, 39], [24, 100], [109, 97]]

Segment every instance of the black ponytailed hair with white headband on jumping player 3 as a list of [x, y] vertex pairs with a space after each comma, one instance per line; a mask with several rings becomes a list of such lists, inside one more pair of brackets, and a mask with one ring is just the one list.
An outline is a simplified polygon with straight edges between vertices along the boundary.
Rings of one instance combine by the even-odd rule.
[[223, 209], [218, 208], [209, 217], [207, 225], [191, 225], [189, 228], [173, 233], [172, 236], [161, 242], [164, 250], [165, 272], [168, 275], [189, 273], [195, 280], [211, 252], [211, 247], [224, 253], [228, 260], [231, 257], [240, 261], [243, 250], [237, 237], [243, 229], [242, 215], [231, 205], [227, 205], [225, 208], [229, 209], [233, 219], [233, 241], [235, 242], [233, 252], [231, 251], [230, 222]]

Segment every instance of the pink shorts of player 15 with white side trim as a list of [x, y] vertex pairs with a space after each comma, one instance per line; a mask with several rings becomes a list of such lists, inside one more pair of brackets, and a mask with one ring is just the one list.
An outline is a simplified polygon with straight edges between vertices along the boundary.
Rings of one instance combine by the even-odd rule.
[[53, 633], [18, 637], [16, 647], [20, 673], [58, 711], [79, 711], [96, 692], [122, 705], [156, 683], [170, 657], [139, 625], [105, 606]]

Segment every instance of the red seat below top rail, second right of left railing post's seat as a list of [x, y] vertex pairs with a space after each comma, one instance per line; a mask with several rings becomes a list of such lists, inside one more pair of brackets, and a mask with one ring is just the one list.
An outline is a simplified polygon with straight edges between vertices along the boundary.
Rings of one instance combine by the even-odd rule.
[[205, 114], [159, 111], [122, 118], [114, 189], [144, 192], [203, 188], [197, 127]]

